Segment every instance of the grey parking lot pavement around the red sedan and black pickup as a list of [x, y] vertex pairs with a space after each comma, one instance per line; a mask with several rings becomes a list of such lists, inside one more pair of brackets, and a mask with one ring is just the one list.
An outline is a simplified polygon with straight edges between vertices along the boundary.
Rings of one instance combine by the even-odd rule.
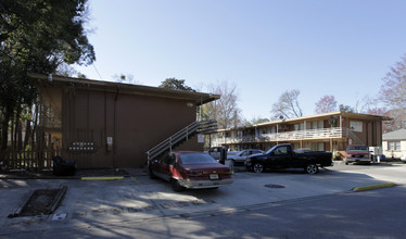
[[[403, 171], [405, 168], [402, 167]], [[231, 213], [272, 206], [289, 200], [347, 192], [355, 187], [383, 181], [376, 175], [334, 171], [334, 167], [320, 169], [316, 175], [304, 174], [303, 171], [255, 174], [241, 169], [234, 174], [232, 185], [179, 193], [172, 190], [170, 184], [150, 179], [142, 171], [127, 171], [130, 176], [119, 180], [1, 179], [0, 226], [3, 229], [0, 237], [15, 231], [137, 222], [162, 216], [188, 218]], [[385, 172], [384, 175], [388, 174]], [[8, 218], [30, 190], [59, 188], [61, 185], [65, 185], [67, 191], [54, 214]]]

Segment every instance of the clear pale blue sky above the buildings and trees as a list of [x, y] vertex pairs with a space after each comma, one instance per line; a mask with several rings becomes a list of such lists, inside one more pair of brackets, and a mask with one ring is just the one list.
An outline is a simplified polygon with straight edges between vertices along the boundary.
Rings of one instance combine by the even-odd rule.
[[305, 115], [332, 95], [355, 106], [376, 97], [406, 53], [404, 0], [90, 0], [97, 61], [76, 70], [91, 79], [166, 78], [206, 91], [234, 84], [243, 116], [269, 117], [299, 89]]

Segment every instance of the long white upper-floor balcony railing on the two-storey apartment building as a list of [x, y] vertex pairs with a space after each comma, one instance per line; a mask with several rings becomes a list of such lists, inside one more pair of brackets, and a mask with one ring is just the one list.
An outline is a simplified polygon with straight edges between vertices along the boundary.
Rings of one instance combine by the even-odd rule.
[[304, 139], [329, 139], [347, 137], [347, 128], [333, 127], [320, 129], [306, 129], [297, 131], [283, 131], [274, 134], [259, 134], [258, 136], [244, 137], [226, 137], [217, 138], [215, 140], [218, 144], [221, 143], [243, 143], [243, 142], [267, 142], [267, 141], [293, 141]]

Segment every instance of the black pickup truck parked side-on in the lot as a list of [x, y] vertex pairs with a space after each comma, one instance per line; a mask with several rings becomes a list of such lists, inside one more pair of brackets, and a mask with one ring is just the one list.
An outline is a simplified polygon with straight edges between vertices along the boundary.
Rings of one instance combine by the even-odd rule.
[[254, 154], [246, 159], [245, 167], [262, 173], [267, 168], [304, 168], [308, 174], [316, 174], [318, 167], [332, 166], [331, 152], [296, 153], [291, 144], [278, 144], [263, 154]]

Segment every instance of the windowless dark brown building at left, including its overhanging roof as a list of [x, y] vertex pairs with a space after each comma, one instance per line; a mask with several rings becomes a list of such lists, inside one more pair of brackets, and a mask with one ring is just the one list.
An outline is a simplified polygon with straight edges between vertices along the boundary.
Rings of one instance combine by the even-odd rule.
[[[196, 109], [219, 96], [112, 81], [31, 74], [40, 92], [42, 148], [78, 167], [147, 164], [147, 151], [196, 122]], [[200, 138], [200, 140], [198, 140]], [[194, 135], [180, 149], [203, 151]], [[50, 165], [42, 154], [37, 166]]]

